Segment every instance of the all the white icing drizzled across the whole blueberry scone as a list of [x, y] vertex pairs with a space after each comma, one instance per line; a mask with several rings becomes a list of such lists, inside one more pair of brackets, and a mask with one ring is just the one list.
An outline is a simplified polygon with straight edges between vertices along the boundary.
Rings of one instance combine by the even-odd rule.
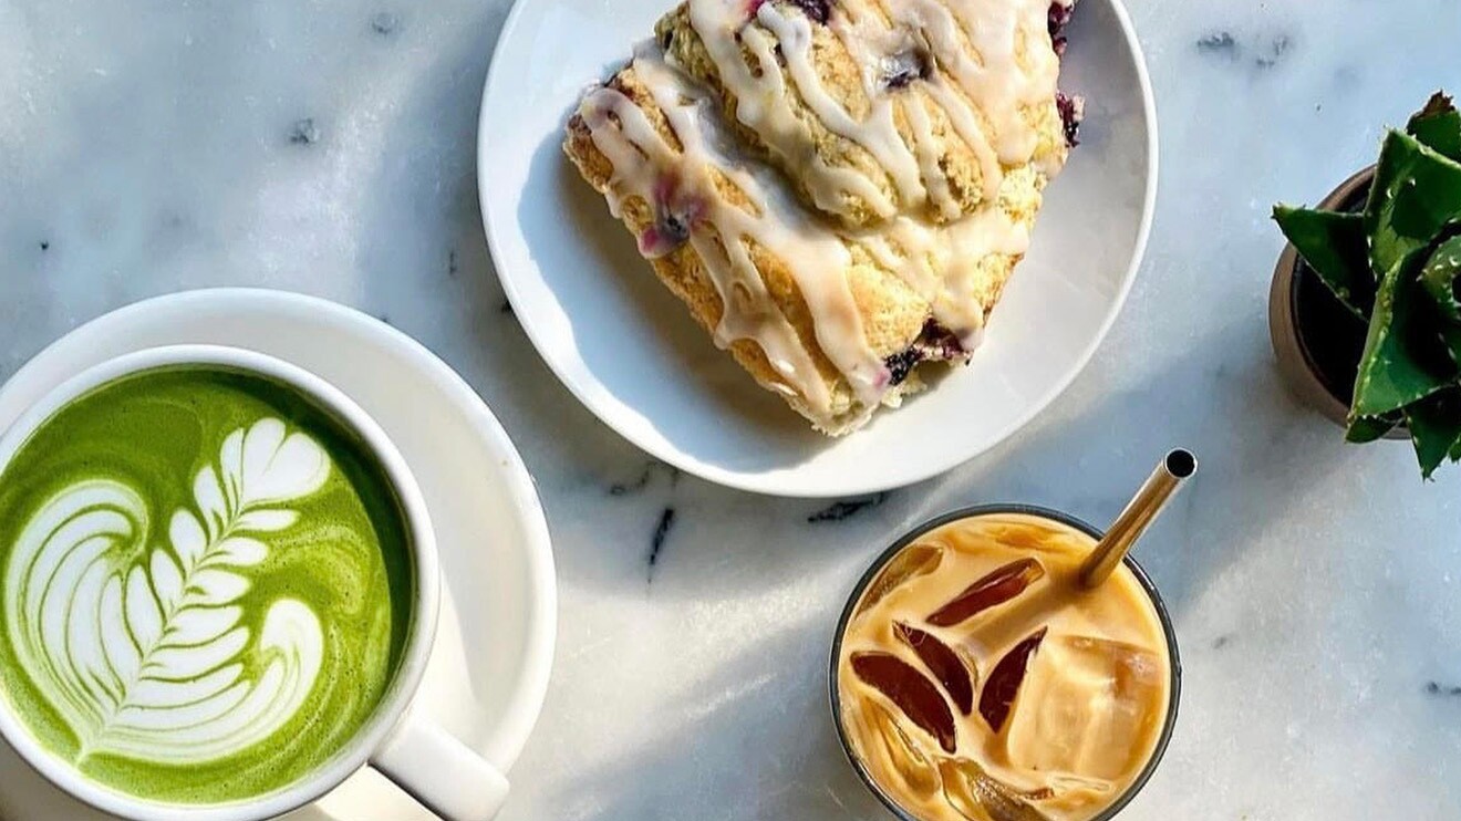
[[[862, 406], [853, 413], [871, 413], [887, 392], [888, 371], [863, 333], [847, 279], [849, 248], [858, 245], [896, 272], [966, 349], [977, 343], [988, 308], [977, 288], [980, 261], [989, 254], [1017, 257], [1029, 243], [1027, 226], [996, 200], [1007, 169], [1034, 159], [1042, 134], [1029, 118], [1053, 105], [1059, 60], [1046, 32], [1048, 10], [1049, 0], [833, 0], [830, 31], [861, 67], [868, 99], [859, 118], [817, 75], [820, 23], [777, 0], [688, 0], [690, 23], [736, 99], [736, 118], [779, 164], [805, 177], [818, 210], [843, 215], [861, 202], [880, 222], [853, 232], [808, 212], [780, 175], [730, 148], [710, 92], [657, 50], [638, 54], [634, 69], [681, 150], [615, 89], [595, 89], [580, 107], [614, 168], [611, 209], [618, 215], [634, 197], [655, 209], [656, 226], [640, 238], [646, 257], [688, 241], [725, 305], [717, 345], [758, 343], [785, 380], [771, 387], [802, 397], [821, 427], [831, 428], [846, 422], [834, 416], [847, 409], [834, 408], [814, 354], [779, 310], [752, 248], [780, 260], [806, 302], [818, 348]], [[926, 63], [923, 76], [910, 80], [922, 95], [885, 88], [888, 67], [907, 66], [910, 54]], [[926, 105], [942, 111], [953, 134], [938, 133]], [[899, 107], [907, 133], [899, 131]], [[806, 117], [862, 146], [885, 177], [872, 180], [824, 159]], [[953, 137], [973, 150], [982, 174], [983, 205], [963, 216], [939, 165]], [[1064, 159], [1050, 153], [1040, 167], [1046, 175]], [[748, 205], [728, 199], [712, 169]], [[929, 206], [944, 225], [928, 219]]]

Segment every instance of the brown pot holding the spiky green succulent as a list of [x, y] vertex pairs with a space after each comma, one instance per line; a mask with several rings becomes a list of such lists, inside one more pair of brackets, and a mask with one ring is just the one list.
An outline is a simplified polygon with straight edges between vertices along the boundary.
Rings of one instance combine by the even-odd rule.
[[[1325, 210], [1365, 207], [1375, 167], [1354, 174], [1319, 202]], [[1278, 371], [1293, 393], [1340, 427], [1346, 425], [1365, 323], [1350, 314], [1316, 273], [1286, 244], [1268, 291], [1268, 335]], [[1386, 438], [1410, 438], [1397, 427]]]

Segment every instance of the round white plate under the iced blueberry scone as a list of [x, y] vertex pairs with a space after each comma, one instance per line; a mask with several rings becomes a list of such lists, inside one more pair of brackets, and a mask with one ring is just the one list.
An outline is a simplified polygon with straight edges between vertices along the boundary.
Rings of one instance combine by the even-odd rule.
[[519, 0], [482, 92], [478, 187], [503, 288], [558, 378], [653, 456], [748, 491], [831, 497], [926, 479], [983, 453], [1086, 365], [1137, 273], [1157, 188], [1151, 86], [1119, 0], [1083, 0], [1061, 88], [1083, 143], [973, 362], [828, 440], [714, 348], [560, 143], [587, 83], [674, 0]]

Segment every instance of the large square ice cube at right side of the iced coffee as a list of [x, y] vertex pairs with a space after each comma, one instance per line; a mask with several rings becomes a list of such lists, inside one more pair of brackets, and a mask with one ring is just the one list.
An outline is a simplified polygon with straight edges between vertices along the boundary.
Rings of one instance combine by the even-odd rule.
[[1005, 739], [1020, 768], [1116, 782], [1145, 764], [1166, 714], [1157, 653], [1122, 641], [1046, 637]]

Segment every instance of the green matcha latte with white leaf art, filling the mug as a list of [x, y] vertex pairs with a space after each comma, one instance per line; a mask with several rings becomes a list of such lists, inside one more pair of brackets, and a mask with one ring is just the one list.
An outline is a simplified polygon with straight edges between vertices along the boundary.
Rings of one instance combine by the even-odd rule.
[[257, 798], [371, 717], [413, 573], [396, 491], [330, 412], [244, 371], [142, 371], [0, 473], [0, 690], [92, 782]]

